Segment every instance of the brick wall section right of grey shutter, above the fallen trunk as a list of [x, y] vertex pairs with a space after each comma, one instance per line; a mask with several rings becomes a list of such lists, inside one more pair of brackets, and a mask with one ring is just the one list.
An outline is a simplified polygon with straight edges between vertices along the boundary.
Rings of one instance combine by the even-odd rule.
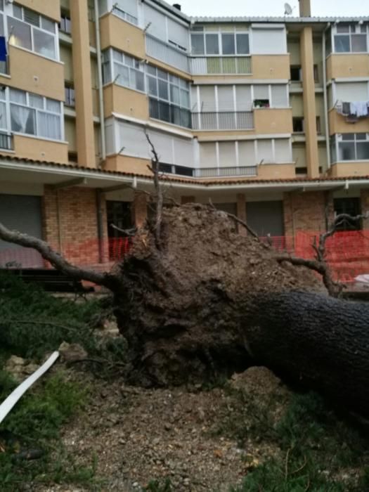
[[293, 236], [299, 231], [321, 233], [326, 231], [326, 212], [330, 221], [333, 217], [332, 195], [326, 191], [284, 193], [283, 211], [285, 235]]

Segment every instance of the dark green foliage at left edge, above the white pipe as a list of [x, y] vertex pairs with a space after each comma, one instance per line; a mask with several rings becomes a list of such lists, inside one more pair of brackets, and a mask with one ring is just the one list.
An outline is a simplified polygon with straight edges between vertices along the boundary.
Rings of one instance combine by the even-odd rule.
[[[123, 338], [104, 339], [95, 328], [111, 308], [103, 301], [76, 303], [23, 283], [10, 273], [0, 273], [0, 367], [13, 354], [40, 361], [62, 342], [80, 344], [91, 358], [101, 358], [98, 373], [107, 375], [115, 362], [122, 363], [127, 350]], [[116, 371], [115, 371], [116, 374]]]

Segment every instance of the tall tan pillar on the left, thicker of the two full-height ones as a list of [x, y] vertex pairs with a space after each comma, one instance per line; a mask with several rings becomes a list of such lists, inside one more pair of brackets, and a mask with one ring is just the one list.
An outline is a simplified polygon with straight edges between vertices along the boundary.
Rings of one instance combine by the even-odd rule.
[[78, 164], [96, 167], [87, 0], [70, 2]]

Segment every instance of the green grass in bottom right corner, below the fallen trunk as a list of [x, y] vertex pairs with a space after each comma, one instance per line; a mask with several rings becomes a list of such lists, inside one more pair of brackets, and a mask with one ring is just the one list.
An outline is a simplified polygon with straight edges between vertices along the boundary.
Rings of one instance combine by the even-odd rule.
[[293, 394], [278, 422], [273, 422], [273, 401], [258, 405], [255, 418], [252, 397], [242, 391], [239, 397], [238, 412], [218, 432], [240, 444], [247, 437], [273, 444], [278, 453], [250, 468], [242, 486], [231, 492], [369, 491], [368, 438], [363, 429], [337, 416], [320, 396]]

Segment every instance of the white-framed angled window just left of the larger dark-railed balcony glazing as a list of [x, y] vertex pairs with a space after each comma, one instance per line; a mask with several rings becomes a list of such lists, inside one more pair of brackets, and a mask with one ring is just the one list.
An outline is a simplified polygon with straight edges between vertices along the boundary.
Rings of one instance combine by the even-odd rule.
[[133, 56], [111, 49], [103, 53], [103, 83], [113, 82], [136, 91], [145, 91], [143, 64]]

